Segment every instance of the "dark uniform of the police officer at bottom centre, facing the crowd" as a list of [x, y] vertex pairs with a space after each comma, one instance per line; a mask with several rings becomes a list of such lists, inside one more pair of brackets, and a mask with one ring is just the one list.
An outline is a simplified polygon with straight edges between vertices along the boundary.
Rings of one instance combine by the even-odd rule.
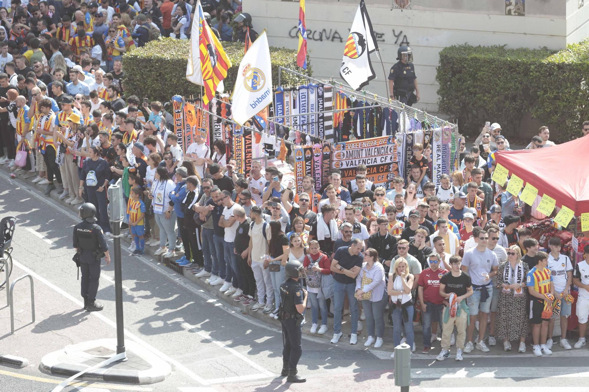
[[296, 368], [299, 363], [303, 348], [300, 344], [303, 315], [296, 310], [296, 305], [303, 304], [305, 293], [299, 282], [288, 278], [280, 285], [280, 298], [282, 300], [282, 361], [288, 363], [290, 369]]

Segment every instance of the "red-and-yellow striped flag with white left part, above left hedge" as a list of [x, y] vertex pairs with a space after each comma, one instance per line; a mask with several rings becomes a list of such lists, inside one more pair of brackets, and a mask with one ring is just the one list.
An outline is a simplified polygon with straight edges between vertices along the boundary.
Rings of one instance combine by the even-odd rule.
[[207, 25], [200, 0], [197, 1], [194, 18], [186, 79], [203, 86], [203, 104], [207, 105], [213, 99], [215, 91], [223, 92], [223, 79], [227, 77], [231, 61], [219, 39]]

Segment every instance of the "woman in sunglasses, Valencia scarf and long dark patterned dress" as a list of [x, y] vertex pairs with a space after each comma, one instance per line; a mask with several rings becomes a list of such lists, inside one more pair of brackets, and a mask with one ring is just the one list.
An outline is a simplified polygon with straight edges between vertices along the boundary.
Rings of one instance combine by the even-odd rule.
[[511, 350], [510, 340], [519, 340], [520, 353], [525, 353], [525, 338], [528, 336], [528, 313], [526, 310], [528, 290], [526, 276], [530, 268], [521, 261], [518, 245], [507, 249], [507, 262], [499, 264], [497, 277], [499, 303], [497, 304], [497, 338], [503, 340], [503, 349]]

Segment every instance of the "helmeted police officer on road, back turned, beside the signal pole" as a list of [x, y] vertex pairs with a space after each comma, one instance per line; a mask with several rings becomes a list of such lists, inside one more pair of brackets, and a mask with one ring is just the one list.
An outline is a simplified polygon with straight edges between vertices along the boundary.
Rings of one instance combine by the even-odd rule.
[[84, 309], [89, 312], [102, 310], [102, 305], [96, 302], [100, 279], [100, 258], [104, 255], [107, 265], [110, 264], [108, 245], [102, 229], [96, 224], [95, 215], [94, 204], [82, 204], [80, 207], [82, 221], [74, 227], [74, 248], [80, 257], [82, 269], [82, 298], [84, 298]]

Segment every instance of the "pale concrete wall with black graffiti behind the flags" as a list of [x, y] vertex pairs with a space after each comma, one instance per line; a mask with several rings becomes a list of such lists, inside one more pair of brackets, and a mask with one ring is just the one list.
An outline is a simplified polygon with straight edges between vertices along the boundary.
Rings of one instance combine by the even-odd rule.
[[[421, 92], [416, 107], [432, 113], [437, 111], [439, 51], [446, 46], [507, 44], [560, 49], [584, 38], [589, 28], [589, 6], [579, 8], [580, 0], [525, 0], [525, 16], [505, 15], [504, 0], [411, 0], [410, 9], [403, 10], [391, 9], [392, 1], [366, 1], [385, 67], [383, 72], [372, 54], [377, 78], [367, 88], [386, 95], [385, 75], [396, 62], [399, 45], [408, 43]], [[339, 80], [343, 46], [358, 3], [306, 0], [307, 47], [315, 77]], [[243, 8], [252, 14], [257, 31], [267, 29], [270, 45], [297, 47], [298, 1], [243, 0]]]

